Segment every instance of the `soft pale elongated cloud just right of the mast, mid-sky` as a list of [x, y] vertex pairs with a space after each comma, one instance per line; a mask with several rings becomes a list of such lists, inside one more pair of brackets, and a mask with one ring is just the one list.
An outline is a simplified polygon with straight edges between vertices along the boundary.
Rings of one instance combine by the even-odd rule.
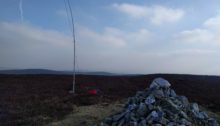
[[[82, 41], [90, 41], [96, 44], [110, 45], [114, 47], [124, 47], [128, 43], [147, 42], [152, 36], [147, 29], [140, 29], [136, 32], [127, 32], [118, 28], [106, 27], [102, 33], [81, 27], [79, 37]], [[85, 40], [86, 39], [86, 40]]]

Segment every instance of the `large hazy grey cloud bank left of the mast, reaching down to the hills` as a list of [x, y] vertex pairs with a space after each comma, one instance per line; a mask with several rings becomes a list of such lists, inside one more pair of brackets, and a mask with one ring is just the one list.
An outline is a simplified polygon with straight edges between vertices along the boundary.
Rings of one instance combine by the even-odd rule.
[[27, 24], [0, 22], [0, 66], [67, 69], [71, 67], [71, 37]]

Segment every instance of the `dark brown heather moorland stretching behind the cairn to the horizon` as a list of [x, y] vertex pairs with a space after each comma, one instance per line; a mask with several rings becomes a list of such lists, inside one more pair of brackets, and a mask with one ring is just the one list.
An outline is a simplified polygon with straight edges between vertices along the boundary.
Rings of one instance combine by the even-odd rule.
[[[177, 94], [220, 112], [220, 77], [176, 74], [138, 76], [77, 75], [77, 95], [69, 75], [0, 75], [0, 125], [45, 125], [65, 118], [74, 106], [114, 102], [133, 96], [149, 86], [155, 77], [171, 83]], [[101, 90], [100, 96], [86, 95], [86, 89]]]

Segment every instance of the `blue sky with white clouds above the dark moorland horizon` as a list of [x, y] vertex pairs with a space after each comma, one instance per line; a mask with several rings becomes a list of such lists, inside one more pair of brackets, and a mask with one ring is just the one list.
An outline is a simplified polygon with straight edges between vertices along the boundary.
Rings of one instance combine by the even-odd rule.
[[[76, 69], [220, 75], [219, 0], [70, 0]], [[0, 1], [0, 69], [73, 69], [64, 0]]]

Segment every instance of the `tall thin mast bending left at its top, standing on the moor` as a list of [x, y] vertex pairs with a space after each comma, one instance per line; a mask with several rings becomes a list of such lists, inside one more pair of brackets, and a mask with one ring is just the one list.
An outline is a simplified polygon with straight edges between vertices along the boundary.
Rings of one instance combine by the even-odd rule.
[[[64, 0], [65, 2], [65, 0]], [[71, 23], [72, 23], [72, 37], [73, 37], [73, 89], [70, 91], [70, 93], [75, 93], [75, 84], [76, 84], [76, 37], [75, 37], [75, 25], [74, 25], [74, 19], [73, 19], [73, 12], [70, 5], [70, 1], [67, 0], [67, 4], [70, 11], [70, 17], [71, 17]], [[65, 2], [66, 6], [66, 2]]]

